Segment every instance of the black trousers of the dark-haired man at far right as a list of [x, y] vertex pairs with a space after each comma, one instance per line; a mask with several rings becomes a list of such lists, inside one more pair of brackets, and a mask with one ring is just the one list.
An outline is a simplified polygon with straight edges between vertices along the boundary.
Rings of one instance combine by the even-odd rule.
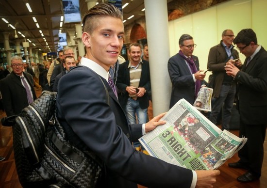
[[266, 127], [267, 125], [247, 125], [240, 119], [239, 137], [245, 136], [248, 141], [238, 151], [239, 162], [249, 167], [249, 171], [258, 177], [262, 170]]

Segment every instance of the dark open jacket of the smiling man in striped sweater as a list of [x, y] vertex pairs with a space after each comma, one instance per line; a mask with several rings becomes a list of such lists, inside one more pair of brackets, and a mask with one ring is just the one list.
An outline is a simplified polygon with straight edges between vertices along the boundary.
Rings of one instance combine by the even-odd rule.
[[[141, 109], [146, 109], [149, 107], [149, 94], [150, 91], [150, 70], [149, 62], [142, 60], [142, 72], [138, 87], [144, 87], [147, 92], [142, 96], [138, 97], [139, 106]], [[118, 77], [117, 77], [117, 89], [118, 89], [118, 100], [123, 108], [127, 104], [129, 98], [129, 93], [126, 91], [126, 87], [130, 86], [130, 69], [128, 68], [129, 61], [124, 62], [118, 67]]]

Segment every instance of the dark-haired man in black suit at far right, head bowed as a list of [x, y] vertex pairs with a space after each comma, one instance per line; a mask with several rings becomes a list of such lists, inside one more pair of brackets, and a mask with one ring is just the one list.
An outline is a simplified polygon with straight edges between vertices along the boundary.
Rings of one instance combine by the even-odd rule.
[[267, 51], [258, 45], [256, 33], [251, 29], [241, 30], [234, 44], [247, 58], [241, 70], [233, 63], [226, 65], [225, 70], [238, 84], [239, 137], [244, 136], [248, 141], [238, 151], [240, 160], [229, 163], [229, 167], [247, 169], [237, 180], [251, 182], [258, 180], [262, 173], [267, 128]]

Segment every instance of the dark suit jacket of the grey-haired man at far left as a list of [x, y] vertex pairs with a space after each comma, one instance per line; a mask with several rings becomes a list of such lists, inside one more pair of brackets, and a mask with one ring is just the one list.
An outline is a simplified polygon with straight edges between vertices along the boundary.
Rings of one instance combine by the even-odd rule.
[[[36, 99], [33, 77], [28, 73], [23, 74], [31, 85], [33, 99]], [[7, 116], [19, 114], [22, 109], [29, 105], [26, 89], [22, 85], [20, 78], [13, 71], [6, 78], [0, 80], [0, 91]]]

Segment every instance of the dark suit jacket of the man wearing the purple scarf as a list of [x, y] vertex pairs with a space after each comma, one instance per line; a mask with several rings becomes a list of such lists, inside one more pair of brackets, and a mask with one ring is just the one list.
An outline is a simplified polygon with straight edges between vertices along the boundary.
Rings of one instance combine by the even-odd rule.
[[[198, 57], [193, 55], [193, 60], [197, 69], [200, 70]], [[182, 98], [193, 105], [195, 101], [196, 83], [194, 82], [190, 69], [184, 62], [184, 58], [182, 58], [178, 53], [169, 59], [168, 72], [172, 83], [169, 108], [173, 107], [173, 105]], [[201, 84], [205, 83], [201, 81]]]

